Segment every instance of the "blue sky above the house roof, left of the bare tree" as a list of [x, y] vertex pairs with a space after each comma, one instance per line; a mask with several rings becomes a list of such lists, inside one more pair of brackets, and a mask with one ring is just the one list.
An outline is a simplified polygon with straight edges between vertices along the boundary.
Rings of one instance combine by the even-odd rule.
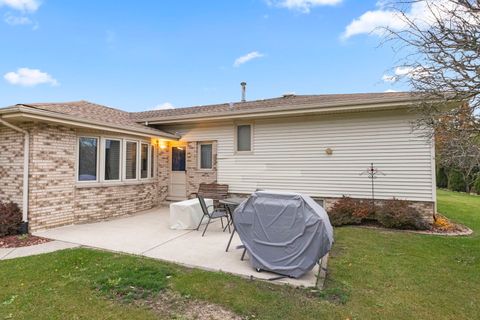
[[[365, 14], [382, 10], [376, 0], [0, 4], [2, 107], [80, 99], [129, 111], [222, 103], [240, 99], [241, 81], [248, 100], [405, 89], [382, 80], [399, 57], [367, 33], [377, 18]], [[346, 36], [349, 25], [355, 30]]]

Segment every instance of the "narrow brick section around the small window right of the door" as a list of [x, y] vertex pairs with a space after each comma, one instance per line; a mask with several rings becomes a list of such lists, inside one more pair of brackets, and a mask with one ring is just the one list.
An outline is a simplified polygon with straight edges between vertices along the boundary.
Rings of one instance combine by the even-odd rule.
[[186, 174], [187, 174], [187, 198], [198, 191], [200, 183], [212, 183], [217, 181], [217, 142], [212, 142], [212, 169], [199, 169], [198, 166], [198, 142], [187, 143], [186, 151]]

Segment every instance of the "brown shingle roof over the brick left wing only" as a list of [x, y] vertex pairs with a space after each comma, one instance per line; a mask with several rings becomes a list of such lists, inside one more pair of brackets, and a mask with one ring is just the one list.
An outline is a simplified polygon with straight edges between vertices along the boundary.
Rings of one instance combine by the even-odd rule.
[[168, 135], [161, 130], [150, 128], [143, 124], [136, 122], [129, 112], [114, 109], [107, 106], [91, 103], [88, 101], [73, 101], [60, 103], [27, 103], [18, 106], [25, 106], [43, 111], [59, 113], [78, 118], [84, 121], [94, 121], [104, 123], [106, 126], [112, 125], [129, 130], [148, 131], [156, 135]]

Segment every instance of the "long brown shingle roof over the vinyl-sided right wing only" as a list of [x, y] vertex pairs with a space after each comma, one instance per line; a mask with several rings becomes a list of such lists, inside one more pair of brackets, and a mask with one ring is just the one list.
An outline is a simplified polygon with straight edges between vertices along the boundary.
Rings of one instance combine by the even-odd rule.
[[[168, 110], [151, 110], [131, 113], [137, 121], [169, 120], [190, 116], [191, 118], [215, 116], [217, 114], [237, 114], [258, 111], [276, 111], [300, 106], [330, 107], [333, 105], [361, 105], [374, 103], [407, 102], [417, 95], [410, 92], [393, 93], [354, 93], [326, 95], [287, 95], [280, 98], [236, 103], [223, 103]], [[418, 97], [418, 96], [417, 96]]]

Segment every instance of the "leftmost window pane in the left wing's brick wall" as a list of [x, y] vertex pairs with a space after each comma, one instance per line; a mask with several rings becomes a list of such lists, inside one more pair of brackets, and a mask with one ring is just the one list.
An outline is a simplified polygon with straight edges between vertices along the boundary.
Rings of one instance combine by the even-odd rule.
[[98, 139], [78, 139], [78, 181], [97, 181]]

